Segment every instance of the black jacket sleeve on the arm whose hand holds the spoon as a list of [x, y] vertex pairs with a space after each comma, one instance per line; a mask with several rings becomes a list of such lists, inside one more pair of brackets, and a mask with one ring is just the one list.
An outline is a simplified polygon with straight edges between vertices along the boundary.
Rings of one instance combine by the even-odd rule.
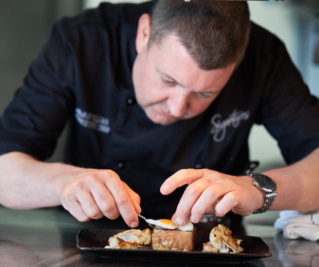
[[47, 159], [74, 112], [74, 60], [62, 25], [63, 21], [54, 25], [23, 85], [4, 111], [0, 120], [0, 155], [19, 151]]

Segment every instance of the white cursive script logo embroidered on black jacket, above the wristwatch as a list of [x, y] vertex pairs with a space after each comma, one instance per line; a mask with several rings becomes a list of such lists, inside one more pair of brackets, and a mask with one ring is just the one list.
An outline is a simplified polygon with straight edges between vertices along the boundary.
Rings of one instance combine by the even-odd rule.
[[233, 113], [228, 115], [227, 119], [221, 120], [221, 115], [215, 114], [211, 118], [211, 134], [213, 135], [213, 140], [215, 142], [221, 142], [225, 139], [226, 128], [234, 127], [237, 128], [242, 120], [247, 120], [250, 116], [250, 111], [237, 111], [234, 109]]

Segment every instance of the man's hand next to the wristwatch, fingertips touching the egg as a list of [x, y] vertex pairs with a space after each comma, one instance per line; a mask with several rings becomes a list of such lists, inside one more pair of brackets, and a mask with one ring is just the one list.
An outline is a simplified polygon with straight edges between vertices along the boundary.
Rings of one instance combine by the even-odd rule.
[[160, 191], [168, 195], [184, 184], [189, 186], [172, 218], [179, 225], [184, 225], [187, 219], [197, 223], [204, 213], [224, 216], [233, 211], [247, 216], [261, 208], [265, 200], [263, 193], [253, 186], [251, 177], [226, 175], [208, 169], [179, 170], [167, 178]]

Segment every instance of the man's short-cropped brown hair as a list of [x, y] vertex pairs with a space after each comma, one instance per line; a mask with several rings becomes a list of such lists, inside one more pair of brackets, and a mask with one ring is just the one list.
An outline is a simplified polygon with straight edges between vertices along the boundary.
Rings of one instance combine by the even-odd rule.
[[244, 57], [250, 29], [246, 1], [159, 0], [151, 18], [149, 46], [175, 34], [201, 69], [238, 66]]

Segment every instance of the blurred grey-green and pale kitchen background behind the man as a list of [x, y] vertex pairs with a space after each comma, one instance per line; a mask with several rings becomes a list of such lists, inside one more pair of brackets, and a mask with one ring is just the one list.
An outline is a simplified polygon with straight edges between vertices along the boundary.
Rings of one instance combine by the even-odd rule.
[[[193, 0], [196, 1], [196, 0]], [[0, 114], [22, 84], [29, 64], [48, 38], [56, 19], [93, 8], [98, 0], [0, 0]], [[112, 3], [143, 1], [113, 0]], [[312, 94], [319, 97], [319, 1], [248, 1], [251, 19], [275, 33], [300, 70]], [[64, 135], [53, 160], [62, 159]], [[285, 165], [277, 142], [263, 126], [254, 126], [250, 157], [256, 171]], [[255, 217], [256, 218], [256, 217]]]

